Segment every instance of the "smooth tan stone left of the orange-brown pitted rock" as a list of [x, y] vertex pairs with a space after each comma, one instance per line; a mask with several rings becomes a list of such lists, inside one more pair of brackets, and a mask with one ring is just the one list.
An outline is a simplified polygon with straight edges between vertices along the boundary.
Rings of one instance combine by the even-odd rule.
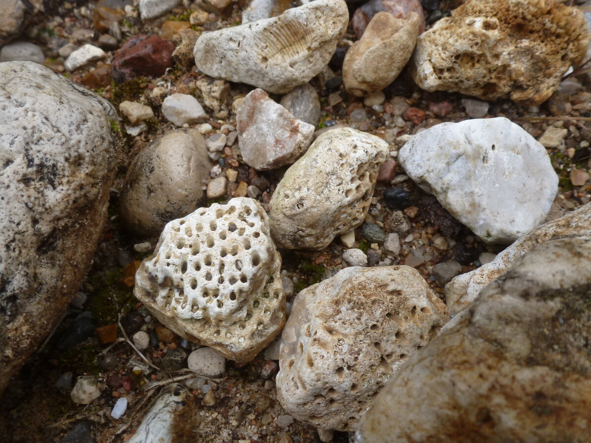
[[413, 54], [419, 28], [420, 17], [415, 12], [405, 19], [378, 12], [345, 56], [343, 82], [347, 92], [362, 97], [394, 82]]

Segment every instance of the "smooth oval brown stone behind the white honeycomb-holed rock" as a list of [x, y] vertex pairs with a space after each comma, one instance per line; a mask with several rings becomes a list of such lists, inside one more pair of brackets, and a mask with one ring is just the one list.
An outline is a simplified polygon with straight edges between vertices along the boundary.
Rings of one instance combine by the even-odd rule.
[[158, 235], [170, 220], [199, 207], [212, 162], [196, 129], [155, 139], [134, 158], [119, 194], [119, 216], [139, 235]]

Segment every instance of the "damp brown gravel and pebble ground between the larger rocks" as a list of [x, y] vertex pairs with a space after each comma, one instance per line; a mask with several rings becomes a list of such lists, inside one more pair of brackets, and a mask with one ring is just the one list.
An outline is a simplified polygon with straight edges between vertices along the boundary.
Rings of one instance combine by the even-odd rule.
[[[277, 2], [277, 7], [282, 3]], [[439, 9], [429, 6], [432, 9], [426, 11], [427, 29], [438, 18], [449, 15], [454, 6], [446, 1], [440, 2]], [[121, 9], [111, 17], [111, 11], [118, 7]], [[125, 175], [138, 152], [154, 139], [183, 126], [164, 115], [164, 99], [174, 93], [196, 96], [208, 114], [200, 122], [190, 123], [209, 142], [212, 164], [203, 184], [206, 206], [248, 196], [269, 211], [271, 196], [287, 168], [256, 171], [245, 164], [232, 141], [236, 139], [238, 105], [254, 88], [230, 83], [225, 95], [216, 96], [215, 87], [199, 86], [209, 77], [191, 63], [192, 44], [187, 43], [191, 36], [183, 41], [177, 34], [181, 29], [203, 32], [233, 27], [241, 23], [243, 7], [242, 2], [237, 2], [223, 11], [213, 8], [213, 12], [204, 12], [197, 5], [187, 4], [158, 18], [141, 19], [131, 1], [63, 2], [51, 14], [36, 15], [22, 34], [22, 41], [40, 48], [41, 61], [47, 67], [93, 90], [121, 110], [121, 123], [113, 120], [112, 125], [121, 133], [125, 148], [116, 159], [108, 222], [93, 255], [92, 268], [60, 323], [9, 382], [2, 396], [3, 441], [128, 441], [151, 400], [164, 386], [177, 381], [190, 389], [196, 417], [178, 441], [319, 441], [316, 428], [295, 420], [277, 399], [277, 350], [267, 349], [246, 364], [228, 361], [220, 376], [193, 376], [185, 359], [197, 346], [164, 328], [133, 295], [135, 271], [154, 250], [160, 231], [130, 234], [118, 212]], [[176, 53], [174, 63], [168, 69], [164, 67], [163, 75], [116, 83], [106, 65], [113, 63], [129, 37], [138, 34], [160, 35], [173, 41], [173, 47], [188, 44], [189, 56]], [[491, 261], [504, 249], [480, 240], [435, 197], [421, 190], [405, 174], [400, 162], [392, 161], [397, 159], [404, 136], [421, 129], [483, 116], [505, 117], [542, 142], [558, 174], [558, 194], [546, 220], [591, 201], [591, 83], [586, 74], [576, 75], [579, 72], [575, 71], [566, 76], [557, 92], [539, 106], [518, 105], [509, 99], [484, 102], [460, 93], [426, 92], [413, 82], [408, 70], [381, 92], [356, 97], [346, 92], [341, 71], [343, 48], [355, 40], [349, 24], [329, 66], [310, 80], [321, 105], [314, 136], [332, 127], [356, 128], [384, 139], [391, 159], [380, 171], [365, 223], [355, 229], [354, 236], [337, 236], [327, 247], [313, 252], [280, 249], [281, 280], [288, 305], [302, 289], [335, 275], [348, 263], [412, 266], [445, 301], [443, 286], [447, 282]], [[96, 45], [105, 53], [98, 60], [69, 69], [68, 56], [84, 44]], [[157, 58], [151, 63], [155, 66], [164, 61]], [[270, 96], [280, 99], [277, 94]], [[126, 101], [150, 106], [152, 115], [148, 112], [144, 118], [131, 121], [130, 116], [136, 113], [120, 107]], [[223, 139], [221, 144], [219, 139]], [[217, 189], [207, 185], [219, 177], [225, 180], [217, 181]], [[521, 192], [534, 197], [538, 191], [536, 187], [525, 187]], [[361, 256], [346, 253], [350, 248], [361, 250]], [[348, 254], [350, 258], [346, 259]], [[149, 337], [142, 355], [130, 346], [138, 331]], [[82, 375], [94, 377], [100, 386], [98, 398], [89, 405], [74, 403], [70, 396], [76, 377]], [[122, 398], [128, 403], [125, 415], [113, 418], [113, 406]], [[332, 441], [347, 442], [349, 434], [336, 432]]]

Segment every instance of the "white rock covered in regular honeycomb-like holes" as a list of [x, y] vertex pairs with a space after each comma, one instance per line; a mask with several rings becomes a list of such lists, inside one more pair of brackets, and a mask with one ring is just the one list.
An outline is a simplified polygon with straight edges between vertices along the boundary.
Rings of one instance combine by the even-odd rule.
[[181, 337], [246, 363], [285, 323], [280, 268], [267, 213], [232, 198], [168, 223], [134, 294]]

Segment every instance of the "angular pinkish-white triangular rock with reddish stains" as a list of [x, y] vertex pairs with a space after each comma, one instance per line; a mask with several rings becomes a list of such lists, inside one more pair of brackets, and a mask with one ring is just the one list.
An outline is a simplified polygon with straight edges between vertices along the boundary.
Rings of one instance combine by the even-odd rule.
[[258, 171], [292, 164], [306, 152], [314, 135], [313, 125], [296, 119], [262, 89], [243, 100], [236, 129], [244, 162]]

